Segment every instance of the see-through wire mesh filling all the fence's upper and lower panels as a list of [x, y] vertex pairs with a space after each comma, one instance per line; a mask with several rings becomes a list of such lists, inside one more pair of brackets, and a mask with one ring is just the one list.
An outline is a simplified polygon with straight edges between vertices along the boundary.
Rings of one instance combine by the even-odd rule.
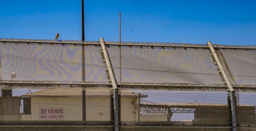
[[[64, 46], [61, 44], [63, 41], [74, 42], [62, 40], [60, 44], [51, 45], [41, 40], [41, 44], [26, 42], [0, 44], [0, 66], [2, 67], [0, 80], [1, 77], [4, 80], [11, 80], [11, 73], [16, 72], [17, 76], [13, 78], [14, 80], [81, 82], [81, 45], [65, 44]], [[117, 82], [222, 84], [221, 76], [209, 55], [210, 51], [204, 48], [205, 45], [153, 42], [123, 42], [122, 44], [161, 46], [120, 46], [118, 48], [117, 45], [106, 45]], [[167, 47], [167, 45], [179, 47]], [[186, 48], [186, 46], [190, 47]], [[201, 47], [196, 48], [197, 46]], [[109, 90], [110, 88], [96, 86], [97, 83], [107, 83], [109, 79], [100, 50], [101, 47], [98, 44], [85, 46], [85, 81], [95, 82], [95, 87], [86, 88], [86, 120], [94, 125], [104, 122], [105, 125], [111, 125], [113, 92]], [[255, 85], [254, 50], [233, 48], [225, 51], [218, 50], [218, 54], [233, 84]], [[17, 97], [1, 97], [3, 99], [0, 100], [0, 108], [5, 109], [0, 110], [0, 114], [8, 114], [8, 116], [0, 115], [0, 121], [82, 121], [82, 88], [71, 86], [71, 84], [67, 86], [70, 87], [54, 87], [47, 90], [11, 90], [12, 88], [7, 86], [2, 87], [1, 93], [6, 91], [5, 94], [12, 93]], [[119, 120], [123, 125], [138, 125], [138, 123], [181, 126], [231, 125], [226, 92], [142, 91], [139, 95], [138, 92], [120, 89], [118, 96]], [[238, 125], [243, 127], [255, 125], [256, 103], [253, 101], [255, 95], [241, 93], [236, 94], [236, 97]], [[144, 112], [140, 112], [142, 105]], [[44, 110], [63, 111], [63, 109], [63, 117], [59, 116], [60, 114], [44, 113]], [[147, 113], [153, 116], [146, 116]]]

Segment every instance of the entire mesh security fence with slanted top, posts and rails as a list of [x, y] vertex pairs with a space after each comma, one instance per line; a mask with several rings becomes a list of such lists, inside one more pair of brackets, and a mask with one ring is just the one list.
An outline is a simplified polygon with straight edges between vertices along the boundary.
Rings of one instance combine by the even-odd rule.
[[256, 46], [210, 46], [0, 39], [0, 127], [255, 130]]

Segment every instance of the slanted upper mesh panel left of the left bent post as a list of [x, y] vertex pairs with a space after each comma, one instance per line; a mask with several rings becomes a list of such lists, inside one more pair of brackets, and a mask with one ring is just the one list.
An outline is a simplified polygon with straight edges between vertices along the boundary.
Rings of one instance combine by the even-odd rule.
[[[23, 41], [26, 41], [23, 39]], [[30, 40], [31, 41], [31, 40]], [[32, 40], [39, 41], [39, 40]], [[82, 48], [73, 44], [6, 42], [0, 44], [0, 79], [37, 81], [82, 81]], [[54, 42], [81, 42], [53, 40]], [[49, 40], [47, 41], [49, 42]], [[85, 46], [85, 81], [106, 82], [101, 47]]]

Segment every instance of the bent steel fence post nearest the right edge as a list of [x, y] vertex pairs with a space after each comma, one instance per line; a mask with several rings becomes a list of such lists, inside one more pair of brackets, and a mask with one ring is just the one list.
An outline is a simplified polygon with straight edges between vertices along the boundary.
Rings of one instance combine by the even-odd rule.
[[226, 71], [222, 66], [222, 63], [219, 60], [218, 54], [215, 51], [215, 48], [213, 47], [211, 41], [207, 42], [208, 47], [210, 48], [211, 54], [219, 68], [219, 71], [223, 77], [223, 79], [225, 80], [225, 83], [228, 87], [228, 91], [230, 91], [230, 107], [231, 107], [231, 118], [232, 118], [232, 130], [236, 131], [236, 100], [235, 100], [235, 90], [231, 84], [231, 82], [229, 81]]

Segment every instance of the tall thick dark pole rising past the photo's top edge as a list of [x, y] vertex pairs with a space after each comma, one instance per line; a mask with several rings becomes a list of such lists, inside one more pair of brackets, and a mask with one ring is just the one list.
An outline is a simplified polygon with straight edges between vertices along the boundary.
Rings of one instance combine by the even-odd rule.
[[[82, 14], [82, 42], [84, 42], [84, 3], [82, 0], [81, 14]], [[85, 48], [82, 44], [82, 82], [85, 83]], [[82, 87], [82, 115], [83, 120], [86, 120], [86, 107], [85, 107], [85, 86]]]

